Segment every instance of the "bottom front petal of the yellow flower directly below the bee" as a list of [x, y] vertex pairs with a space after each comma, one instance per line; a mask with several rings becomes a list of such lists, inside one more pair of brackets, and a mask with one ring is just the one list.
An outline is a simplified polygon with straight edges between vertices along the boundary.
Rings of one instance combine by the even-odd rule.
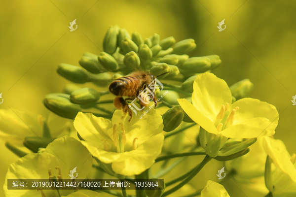
[[121, 162], [113, 162], [113, 171], [125, 176], [141, 174], [154, 164], [155, 159], [161, 153], [163, 140], [164, 135], [162, 133], [150, 137], [138, 146], [136, 150], [126, 152], [132, 155], [132, 157]]

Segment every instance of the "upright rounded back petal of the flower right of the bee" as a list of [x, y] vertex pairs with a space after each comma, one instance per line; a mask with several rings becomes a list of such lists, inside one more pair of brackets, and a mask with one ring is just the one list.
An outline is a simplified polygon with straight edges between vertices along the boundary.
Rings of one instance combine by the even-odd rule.
[[231, 106], [231, 92], [226, 82], [212, 73], [197, 75], [193, 83], [192, 104], [200, 113], [215, 122], [221, 105]]

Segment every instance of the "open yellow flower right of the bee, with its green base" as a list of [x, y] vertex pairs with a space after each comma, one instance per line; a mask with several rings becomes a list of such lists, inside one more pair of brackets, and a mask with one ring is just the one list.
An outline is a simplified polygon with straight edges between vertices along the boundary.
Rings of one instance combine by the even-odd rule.
[[[216, 151], [207, 150], [211, 157], [227, 138], [256, 138], [270, 136], [278, 124], [275, 106], [258, 99], [244, 98], [231, 104], [232, 97], [226, 82], [212, 73], [197, 75], [193, 84], [192, 104], [178, 99], [186, 114], [208, 134]], [[203, 146], [203, 143], [201, 141]], [[205, 148], [205, 146], [203, 146]]]

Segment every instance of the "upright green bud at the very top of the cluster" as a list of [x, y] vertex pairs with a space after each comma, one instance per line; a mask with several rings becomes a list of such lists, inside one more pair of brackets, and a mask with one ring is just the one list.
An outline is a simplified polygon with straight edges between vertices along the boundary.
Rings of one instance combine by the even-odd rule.
[[105, 34], [103, 49], [106, 53], [112, 55], [117, 49], [118, 27], [111, 26]]

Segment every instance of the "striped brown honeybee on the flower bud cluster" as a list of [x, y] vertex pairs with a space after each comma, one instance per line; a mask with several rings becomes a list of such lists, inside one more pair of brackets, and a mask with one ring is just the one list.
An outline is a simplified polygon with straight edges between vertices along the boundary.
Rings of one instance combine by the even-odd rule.
[[[163, 74], [166, 73], [167, 72]], [[129, 119], [130, 122], [132, 120], [133, 113], [130, 109], [131, 105], [127, 103], [127, 100], [136, 100], [138, 98], [140, 100], [140, 106], [144, 108], [148, 106], [150, 102], [149, 99], [152, 98], [156, 107], [157, 98], [155, 95], [155, 87], [156, 81], [154, 75], [148, 71], [138, 70], [130, 73], [127, 76], [115, 79], [113, 82], [111, 82], [109, 90], [113, 95], [116, 96], [113, 101], [115, 108], [122, 109], [124, 114], [128, 113], [131, 117]], [[146, 93], [146, 95], [144, 94], [145, 90], [148, 91], [148, 94]], [[139, 97], [139, 95], [141, 96]], [[128, 98], [124, 99], [123, 97]]]

